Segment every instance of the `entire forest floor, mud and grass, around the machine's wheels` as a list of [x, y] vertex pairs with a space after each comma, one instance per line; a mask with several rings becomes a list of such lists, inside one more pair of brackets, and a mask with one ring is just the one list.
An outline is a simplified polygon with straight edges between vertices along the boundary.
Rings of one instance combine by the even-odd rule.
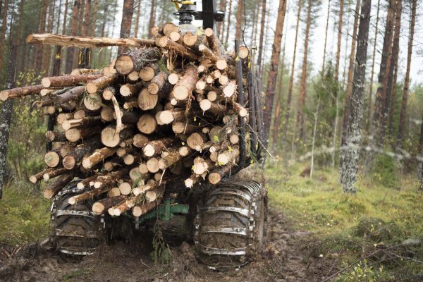
[[152, 262], [146, 240], [114, 242], [78, 260], [43, 250], [37, 242], [47, 237], [49, 202], [18, 183], [0, 202], [0, 281], [422, 281], [417, 181], [406, 177], [388, 188], [383, 175], [372, 175], [345, 197], [330, 168], [310, 179], [305, 164], [281, 167], [266, 167], [271, 208], [263, 252], [224, 273], [198, 263], [183, 240], [169, 242], [168, 264]]

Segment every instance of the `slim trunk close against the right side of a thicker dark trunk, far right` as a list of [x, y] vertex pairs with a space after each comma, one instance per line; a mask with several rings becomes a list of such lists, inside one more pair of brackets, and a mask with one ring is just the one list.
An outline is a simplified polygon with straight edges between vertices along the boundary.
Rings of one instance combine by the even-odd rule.
[[398, 56], [400, 52], [400, 30], [401, 30], [401, 15], [403, 11], [403, 1], [396, 0], [396, 21], [395, 32], [393, 35], [392, 59], [388, 76], [388, 87], [386, 89], [386, 109], [389, 111], [388, 117], [388, 133], [389, 136], [393, 133], [393, 115], [395, 114], [396, 105], [396, 83], [398, 75]]

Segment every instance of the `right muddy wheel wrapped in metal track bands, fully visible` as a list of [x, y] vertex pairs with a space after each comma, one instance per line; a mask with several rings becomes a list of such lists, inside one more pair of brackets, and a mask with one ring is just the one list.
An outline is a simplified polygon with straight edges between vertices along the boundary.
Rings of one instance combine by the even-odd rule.
[[266, 235], [266, 190], [255, 181], [221, 183], [198, 205], [195, 249], [211, 269], [244, 266]]

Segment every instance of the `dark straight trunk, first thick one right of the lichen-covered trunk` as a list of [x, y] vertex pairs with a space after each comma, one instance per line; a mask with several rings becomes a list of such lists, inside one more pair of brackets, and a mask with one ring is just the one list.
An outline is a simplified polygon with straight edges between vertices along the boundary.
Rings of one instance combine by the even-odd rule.
[[388, 13], [386, 15], [386, 29], [384, 35], [384, 48], [382, 50], [381, 65], [379, 70], [379, 87], [376, 92], [376, 105], [374, 109], [374, 134], [377, 145], [382, 145], [385, 137], [386, 125], [386, 87], [388, 86], [388, 74], [392, 56], [392, 37], [395, 0], [389, 0]]

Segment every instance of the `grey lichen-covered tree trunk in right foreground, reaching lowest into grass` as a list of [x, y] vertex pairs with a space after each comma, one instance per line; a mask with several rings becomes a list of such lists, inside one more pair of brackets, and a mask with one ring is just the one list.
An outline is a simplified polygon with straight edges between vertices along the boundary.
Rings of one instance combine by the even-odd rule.
[[372, 0], [363, 0], [360, 16], [360, 27], [357, 37], [357, 56], [351, 96], [351, 108], [348, 116], [348, 148], [341, 150], [341, 185], [343, 192], [355, 193], [360, 157], [361, 128], [364, 103], [364, 85], [366, 81], [367, 45], [369, 41], [369, 23]]

